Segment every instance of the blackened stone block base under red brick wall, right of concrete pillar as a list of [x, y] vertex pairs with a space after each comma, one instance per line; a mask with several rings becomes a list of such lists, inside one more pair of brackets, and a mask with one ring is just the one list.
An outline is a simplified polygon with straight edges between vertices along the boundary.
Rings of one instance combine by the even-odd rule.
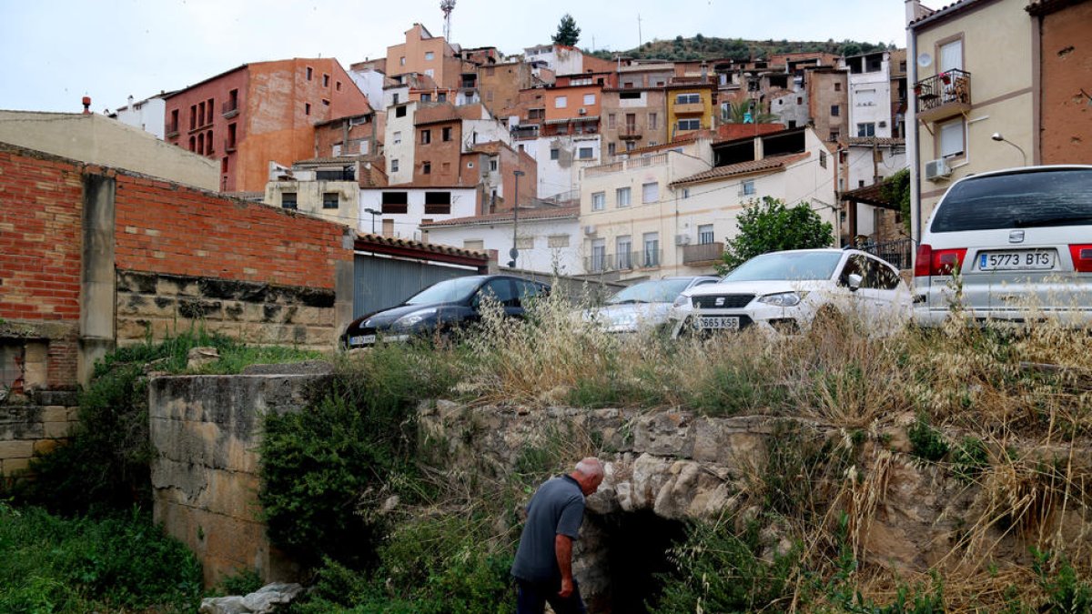
[[116, 296], [118, 345], [203, 329], [250, 344], [329, 350], [339, 332], [333, 290], [119, 269]]

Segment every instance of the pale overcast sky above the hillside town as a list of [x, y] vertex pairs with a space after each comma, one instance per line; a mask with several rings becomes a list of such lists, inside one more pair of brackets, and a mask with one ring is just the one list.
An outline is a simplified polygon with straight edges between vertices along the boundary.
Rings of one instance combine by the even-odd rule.
[[[0, 109], [114, 109], [239, 64], [383, 57], [420, 22], [443, 34], [439, 0], [0, 0]], [[626, 50], [696, 34], [905, 46], [903, 0], [456, 0], [451, 38], [505, 54], [549, 43], [565, 13], [582, 48]], [[640, 22], [638, 16], [640, 15]]]

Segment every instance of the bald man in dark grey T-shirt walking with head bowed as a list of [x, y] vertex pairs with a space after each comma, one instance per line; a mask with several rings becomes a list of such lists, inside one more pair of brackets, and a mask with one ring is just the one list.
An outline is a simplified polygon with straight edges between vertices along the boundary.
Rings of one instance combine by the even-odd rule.
[[556, 614], [583, 613], [584, 601], [572, 579], [572, 541], [584, 520], [584, 497], [603, 482], [603, 463], [586, 458], [568, 475], [546, 481], [527, 504], [527, 521], [512, 563], [519, 587], [519, 614], [542, 614], [549, 602]]

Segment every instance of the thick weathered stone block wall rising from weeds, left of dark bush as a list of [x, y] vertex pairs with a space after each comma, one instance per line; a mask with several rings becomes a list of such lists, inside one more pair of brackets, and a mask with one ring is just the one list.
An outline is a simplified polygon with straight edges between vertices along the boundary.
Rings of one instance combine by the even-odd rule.
[[261, 417], [298, 411], [322, 375], [157, 377], [149, 383], [153, 513], [201, 559], [206, 585], [241, 569], [297, 568], [265, 538], [258, 505]]

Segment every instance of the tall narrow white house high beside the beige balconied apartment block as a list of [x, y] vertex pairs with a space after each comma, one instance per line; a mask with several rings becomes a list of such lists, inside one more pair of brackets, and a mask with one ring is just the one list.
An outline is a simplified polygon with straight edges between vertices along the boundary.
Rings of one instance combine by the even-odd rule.
[[844, 59], [850, 71], [850, 137], [891, 137], [891, 52]]

